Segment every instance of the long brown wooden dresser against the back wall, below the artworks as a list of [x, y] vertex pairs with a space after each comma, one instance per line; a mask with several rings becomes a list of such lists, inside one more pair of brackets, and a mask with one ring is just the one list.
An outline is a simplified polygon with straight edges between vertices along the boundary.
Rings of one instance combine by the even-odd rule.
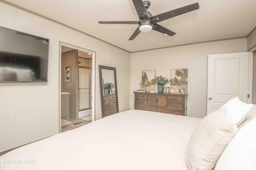
[[187, 115], [188, 94], [134, 92], [134, 109]]

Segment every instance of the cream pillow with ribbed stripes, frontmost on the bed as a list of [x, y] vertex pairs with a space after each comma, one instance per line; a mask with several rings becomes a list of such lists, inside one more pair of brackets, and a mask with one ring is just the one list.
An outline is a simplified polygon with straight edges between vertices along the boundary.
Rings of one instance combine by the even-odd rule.
[[226, 116], [226, 109], [218, 109], [202, 119], [188, 143], [186, 164], [189, 170], [212, 170], [237, 127]]

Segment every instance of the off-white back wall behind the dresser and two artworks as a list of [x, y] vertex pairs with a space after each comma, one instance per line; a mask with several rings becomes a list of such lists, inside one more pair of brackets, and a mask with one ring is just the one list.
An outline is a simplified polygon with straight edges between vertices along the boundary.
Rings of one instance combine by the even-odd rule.
[[132, 53], [130, 109], [134, 109], [132, 92], [140, 88], [142, 70], [156, 70], [156, 76], [170, 79], [171, 69], [188, 68], [187, 116], [203, 118], [207, 104], [208, 55], [246, 51], [247, 39], [243, 38]]

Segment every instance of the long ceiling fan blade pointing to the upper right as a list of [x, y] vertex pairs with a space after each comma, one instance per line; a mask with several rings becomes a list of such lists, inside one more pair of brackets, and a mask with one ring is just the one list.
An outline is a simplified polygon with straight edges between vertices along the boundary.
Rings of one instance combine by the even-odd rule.
[[188, 6], [178, 8], [176, 10], [171, 10], [171, 11], [168, 11], [168, 12], [156, 15], [156, 16], [152, 16], [152, 17], [150, 17], [150, 19], [153, 21], [153, 23], [157, 23], [157, 22], [160, 22], [160, 21], [167, 20], [169, 18], [179, 16], [181, 14], [185, 14], [187, 12], [198, 10], [198, 9], [199, 9], [199, 4], [195, 3], [195, 4], [191, 4], [191, 5], [188, 5]]

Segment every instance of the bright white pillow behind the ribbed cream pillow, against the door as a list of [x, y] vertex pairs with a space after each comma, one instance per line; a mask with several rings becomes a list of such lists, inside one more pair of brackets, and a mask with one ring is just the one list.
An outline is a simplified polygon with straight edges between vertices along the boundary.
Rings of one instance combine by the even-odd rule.
[[227, 119], [238, 127], [246, 118], [246, 113], [252, 109], [252, 104], [241, 102], [238, 97], [229, 100], [220, 108], [226, 108]]

